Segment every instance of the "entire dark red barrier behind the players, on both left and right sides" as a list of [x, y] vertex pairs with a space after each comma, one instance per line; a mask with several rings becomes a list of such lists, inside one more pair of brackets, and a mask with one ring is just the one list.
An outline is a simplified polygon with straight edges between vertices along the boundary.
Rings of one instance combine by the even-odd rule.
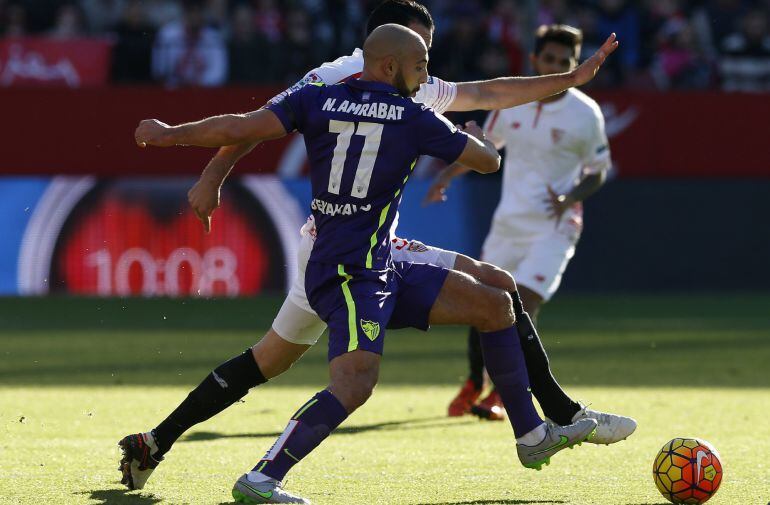
[[[5, 89], [0, 173], [197, 174], [210, 149], [142, 150], [140, 119], [196, 120], [256, 109], [277, 88]], [[621, 177], [770, 177], [770, 95], [603, 93]], [[239, 171], [274, 171], [287, 139], [257, 148]]]

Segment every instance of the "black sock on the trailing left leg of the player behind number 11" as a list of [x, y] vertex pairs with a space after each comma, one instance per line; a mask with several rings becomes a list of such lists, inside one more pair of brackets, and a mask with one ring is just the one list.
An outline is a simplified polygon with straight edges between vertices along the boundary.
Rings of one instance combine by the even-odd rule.
[[249, 389], [267, 379], [259, 370], [251, 349], [222, 363], [152, 433], [158, 444], [155, 457], [163, 456], [182, 433], [237, 402]]

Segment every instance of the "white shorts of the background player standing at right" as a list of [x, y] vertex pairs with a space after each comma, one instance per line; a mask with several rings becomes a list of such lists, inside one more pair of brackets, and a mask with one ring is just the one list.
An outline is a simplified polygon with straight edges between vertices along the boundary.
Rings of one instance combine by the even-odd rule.
[[582, 221], [565, 218], [558, 227], [554, 225], [548, 221], [533, 233], [531, 228], [517, 230], [511, 223], [493, 223], [481, 259], [507, 270], [517, 284], [547, 302], [559, 289], [564, 270], [575, 255]]

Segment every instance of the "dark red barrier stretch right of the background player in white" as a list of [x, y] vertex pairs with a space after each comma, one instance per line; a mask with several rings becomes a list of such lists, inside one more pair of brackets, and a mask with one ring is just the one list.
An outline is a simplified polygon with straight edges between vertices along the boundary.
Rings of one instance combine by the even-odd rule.
[[596, 98], [622, 177], [770, 177], [770, 94]]

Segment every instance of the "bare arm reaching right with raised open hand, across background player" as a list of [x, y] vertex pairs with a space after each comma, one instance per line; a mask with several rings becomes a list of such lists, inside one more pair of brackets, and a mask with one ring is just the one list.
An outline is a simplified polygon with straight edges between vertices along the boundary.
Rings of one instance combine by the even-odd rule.
[[534, 102], [561, 93], [573, 86], [580, 86], [594, 78], [599, 68], [618, 47], [615, 34], [611, 34], [593, 56], [575, 70], [563, 74], [537, 77], [500, 77], [487, 81], [457, 83], [457, 96], [449, 106], [450, 111], [507, 109]]

